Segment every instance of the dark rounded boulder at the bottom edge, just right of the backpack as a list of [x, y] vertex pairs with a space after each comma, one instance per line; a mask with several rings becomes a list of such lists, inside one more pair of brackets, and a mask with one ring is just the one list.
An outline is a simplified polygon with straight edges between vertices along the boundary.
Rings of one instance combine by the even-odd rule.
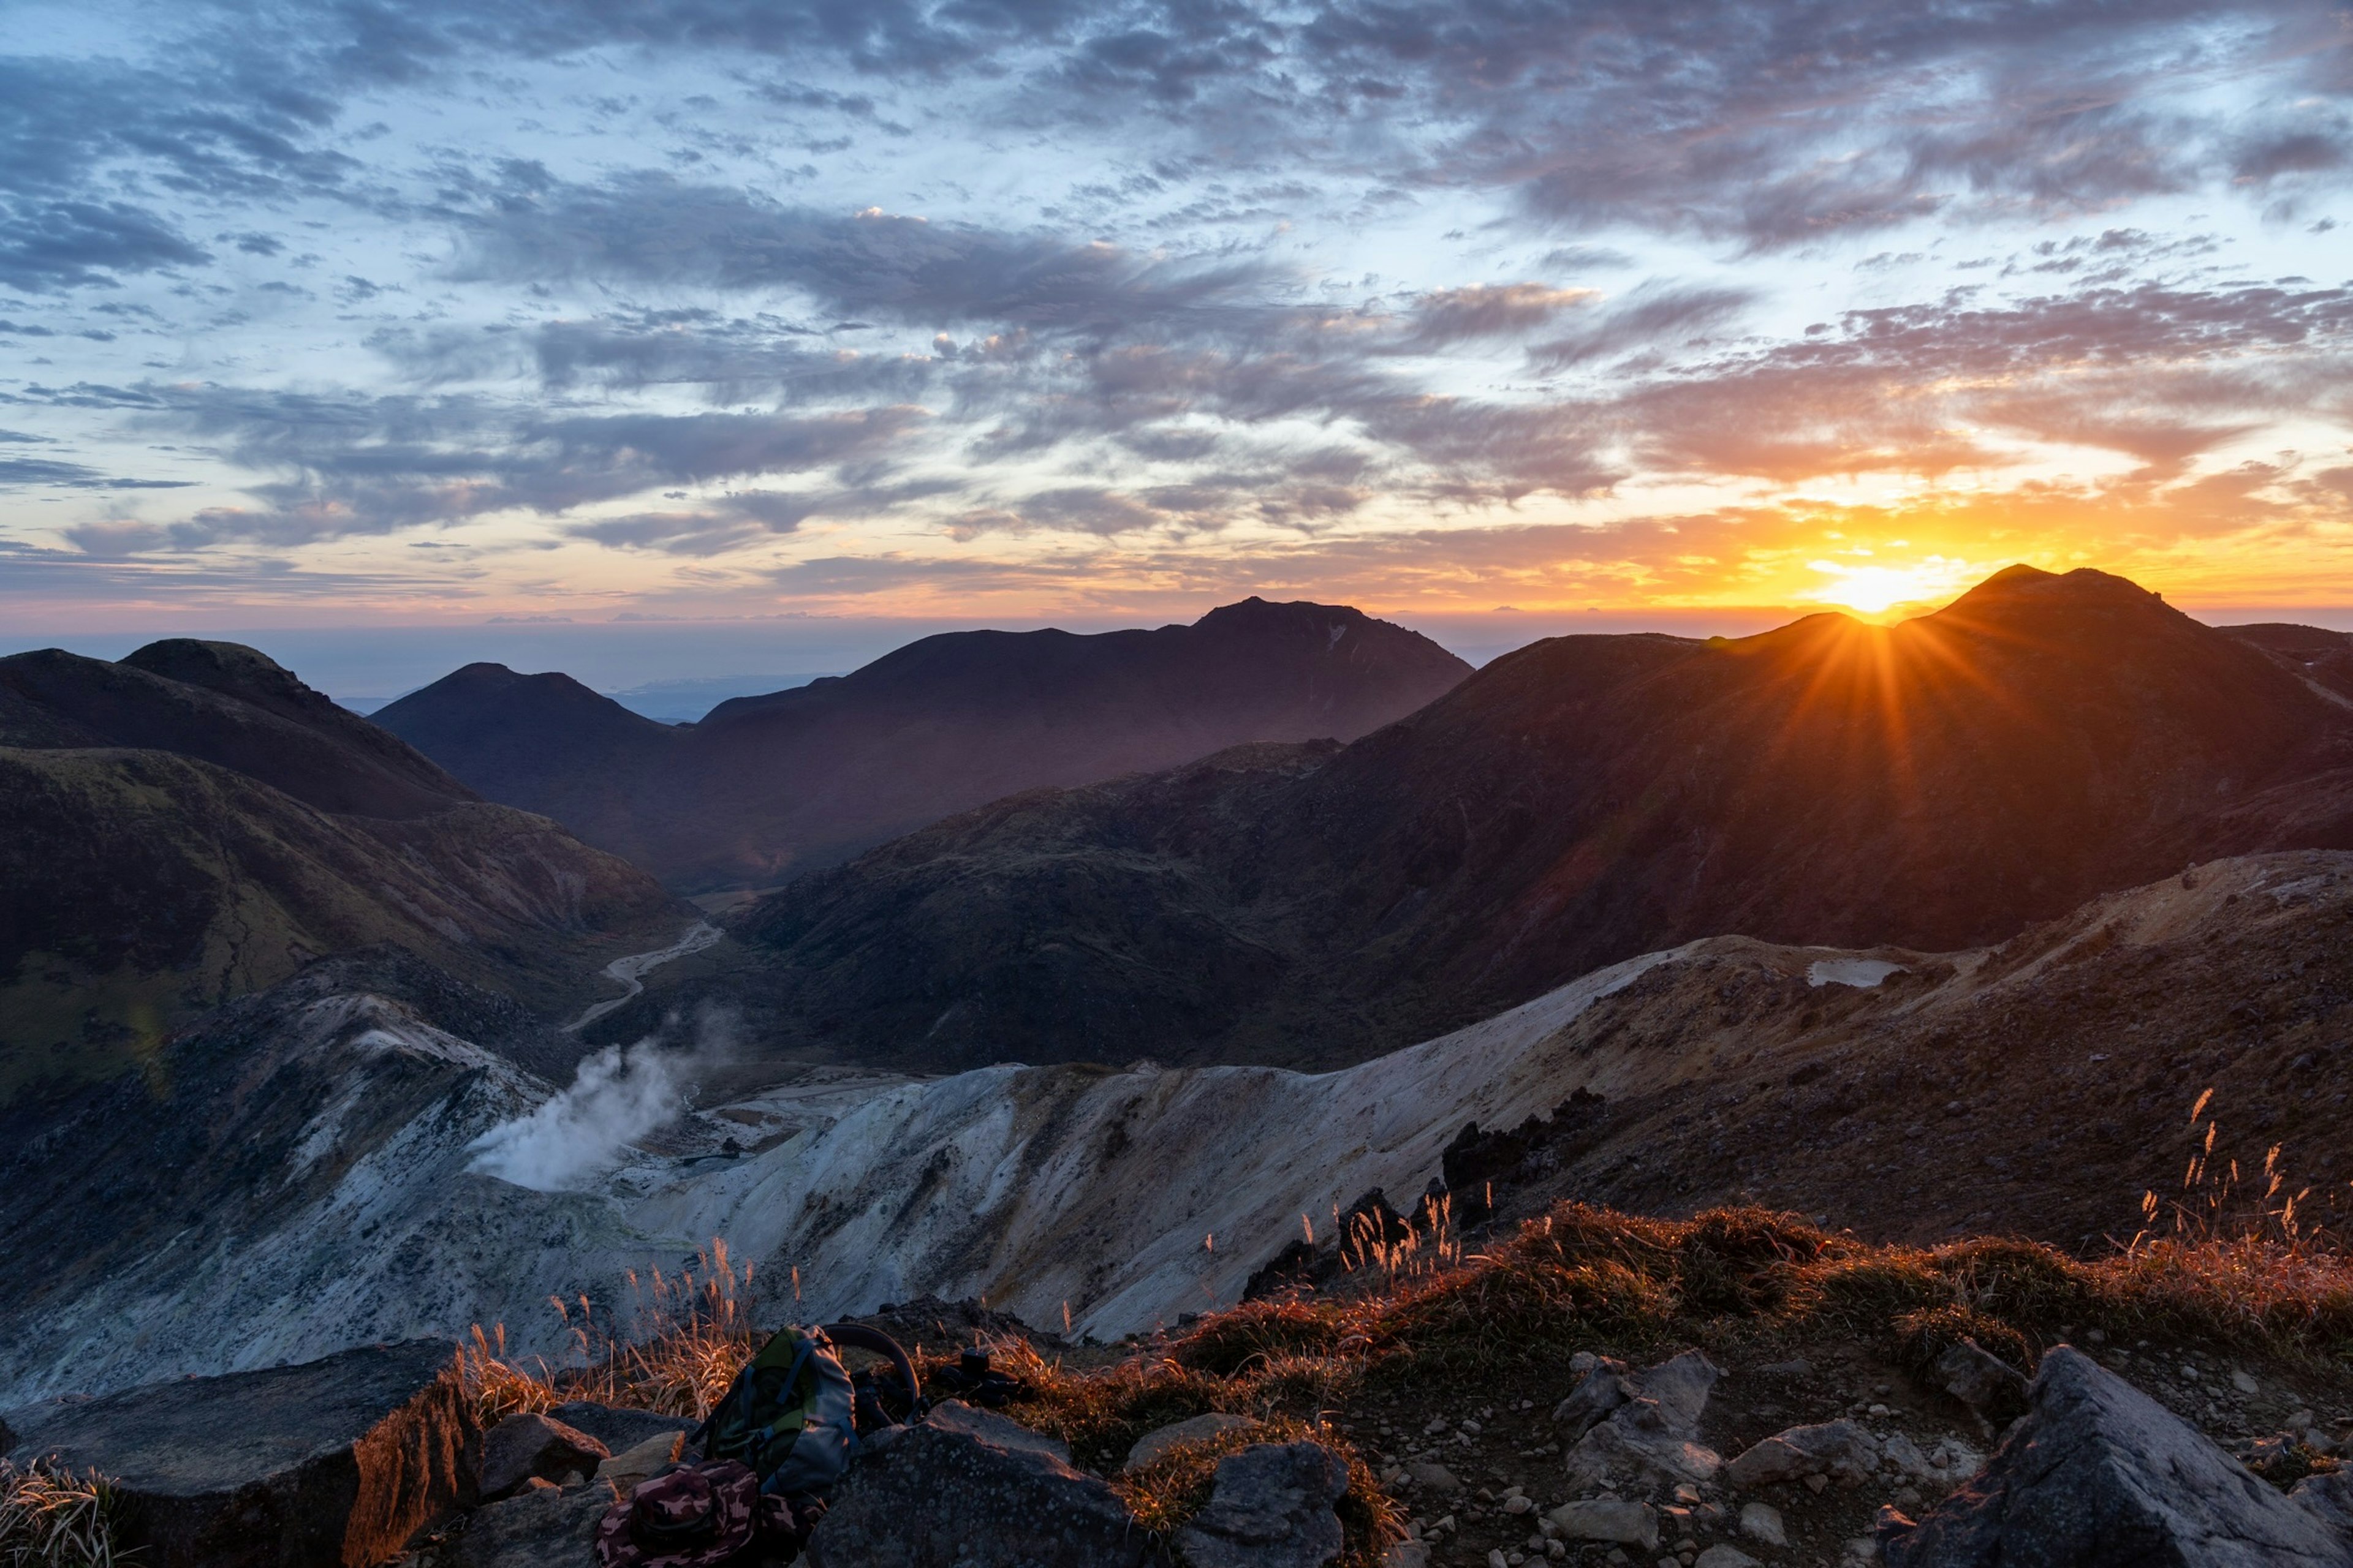
[[1151, 1547], [1111, 1486], [1071, 1469], [1068, 1448], [951, 1399], [866, 1441], [807, 1559], [809, 1568], [1144, 1568]]

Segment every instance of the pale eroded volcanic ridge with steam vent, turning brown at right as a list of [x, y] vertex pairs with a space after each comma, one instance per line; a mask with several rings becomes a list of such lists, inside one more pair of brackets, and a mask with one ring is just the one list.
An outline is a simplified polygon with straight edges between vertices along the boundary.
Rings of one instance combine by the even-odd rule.
[[[2097, 1255], [2144, 1192], [2181, 1194], [2219, 1124], [2217, 1171], [2278, 1145], [2287, 1192], [2341, 1227], [2348, 922], [2353, 853], [2254, 856], [1991, 950], [1645, 952], [1322, 1074], [769, 1063], [729, 1081], [706, 1046], [614, 1053], [569, 1091], [548, 1081], [560, 1041], [511, 1001], [344, 954], [141, 1072], [0, 1105], [0, 1255], [21, 1274], [0, 1293], [0, 1410], [471, 1324], [562, 1356], [576, 1319], [551, 1295], [626, 1324], [626, 1272], [673, 1272], [711, 1237], [760, 1276], [798, 1272], [816, 1319], [976, 1295], [1115, 1338], [1231, 1305], [1301, 1215], [1329, 1251], [1334, 1211], [1374, 1190], [1412, 1211], [1433, 1178], [1459, 1222], [1562, 1194], [1671, 1218], [1755, 1201], [1871, 1241]], [[616, 1126], [633, 1081], [666, 1098]], [[482, 1159], [522, 1145], [562, 1168]]]

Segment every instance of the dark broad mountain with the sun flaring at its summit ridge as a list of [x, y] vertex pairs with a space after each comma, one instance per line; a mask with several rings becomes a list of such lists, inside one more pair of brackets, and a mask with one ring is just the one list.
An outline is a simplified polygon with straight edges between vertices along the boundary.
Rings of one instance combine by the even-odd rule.
[[1021, 795], [802, 877], [609, 1027], [701, 992], [769, 1048], [920, 1070], [1362, 1060], [1699, 936], [1948, 950], [2353, 844], [2348, 719], [2099, 571], [1894, 628], [1558, 637], [1353, 745]]

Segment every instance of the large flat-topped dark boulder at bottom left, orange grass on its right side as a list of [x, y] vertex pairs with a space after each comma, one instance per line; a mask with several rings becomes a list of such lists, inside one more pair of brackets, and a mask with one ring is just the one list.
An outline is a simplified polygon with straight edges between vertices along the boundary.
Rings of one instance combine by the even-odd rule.
[[341, 1568], [471, 1500], [447, 1340], [346, 1349], [56, 1406], [12, 1453], [113, 1476], [146, 1568]]

